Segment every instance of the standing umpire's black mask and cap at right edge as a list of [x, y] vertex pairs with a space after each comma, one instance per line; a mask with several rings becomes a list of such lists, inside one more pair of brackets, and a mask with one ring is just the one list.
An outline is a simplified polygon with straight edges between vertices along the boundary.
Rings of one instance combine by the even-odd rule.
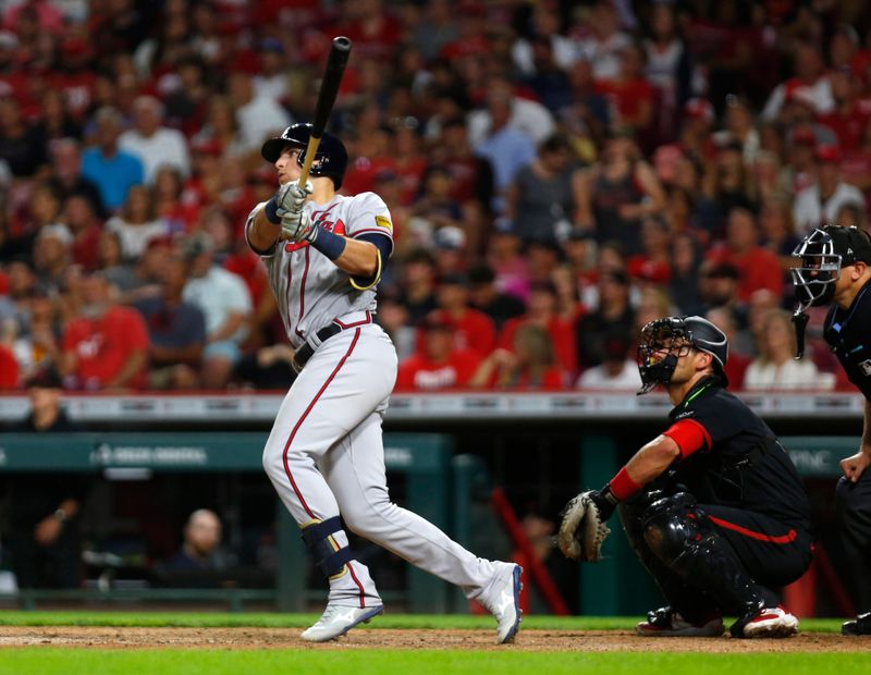
[[826, 225], [817, 228], [796, 246], [793, 256], [800, 260], [792, 269], [793, 283], [798, 296], [798, 307], [793, 314], [796, 328], [797, 353], [805, 352], [805, 327], [809, 307], [821, 307], [832, 302], [841, 270], [856, 262], [871, 262], [871, 238], [858, 228]]

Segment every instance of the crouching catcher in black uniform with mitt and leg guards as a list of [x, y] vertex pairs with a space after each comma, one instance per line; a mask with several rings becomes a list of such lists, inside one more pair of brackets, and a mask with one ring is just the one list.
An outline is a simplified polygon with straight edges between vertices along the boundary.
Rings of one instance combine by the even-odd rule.
[[716, 637], [737, 616], [737, 638], [787, 637], [798, 619], [780, 587], [810, 565], [810, 505], [769, 427], [726, 391], [726, 335], [701, 317], [667, 317], [641, 331], [646, 394], [662, 386], [671, 426], [600, 490], [573, 499], [557, 543], [574, 560], [601, 560], [616, 511], [667, 605], [636, 626], [643, 636]]

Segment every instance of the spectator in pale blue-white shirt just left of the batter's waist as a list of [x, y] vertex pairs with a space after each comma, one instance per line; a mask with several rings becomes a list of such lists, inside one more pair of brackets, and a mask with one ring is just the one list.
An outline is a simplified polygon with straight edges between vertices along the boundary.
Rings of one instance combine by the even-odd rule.
[[248, 334], [252, 298], [241, 277], [214, 263], [214, 243], [205, 233], [185, 242], [189, 277], [182, 299], [198, 307], [206, 318], [203, 386], [222, 389], [242, 356]]

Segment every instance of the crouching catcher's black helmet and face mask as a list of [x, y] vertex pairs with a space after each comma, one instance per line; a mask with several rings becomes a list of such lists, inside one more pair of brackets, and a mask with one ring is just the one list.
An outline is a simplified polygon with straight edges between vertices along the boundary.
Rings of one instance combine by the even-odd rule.
[[727, 383], [723, 368], [728, 359], [728, 340], [708, 319], [695, 316], [666, 317], [645, 326], [638, 345], [638, 372], [642, 382], [638, 395], [648, 393], [657, 384], [671, 382], [677, 359], [687, 356], [694, 348], [713, 356], [711, 363], [714, 370]]

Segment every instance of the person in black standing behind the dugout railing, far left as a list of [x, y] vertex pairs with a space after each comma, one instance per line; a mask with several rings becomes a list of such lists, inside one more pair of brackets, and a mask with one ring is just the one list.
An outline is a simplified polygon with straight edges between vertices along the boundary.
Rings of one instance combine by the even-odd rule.
[[[61, 407], [61, 379], [52, 368], [26, 383], [30, 413], [11, 431], [63, 434], [77, 428]], [[75, 472], [16, 475], [7, 480], [8, 547], [19, 588], [78, 588], [79, 515], [88, 481]]]

